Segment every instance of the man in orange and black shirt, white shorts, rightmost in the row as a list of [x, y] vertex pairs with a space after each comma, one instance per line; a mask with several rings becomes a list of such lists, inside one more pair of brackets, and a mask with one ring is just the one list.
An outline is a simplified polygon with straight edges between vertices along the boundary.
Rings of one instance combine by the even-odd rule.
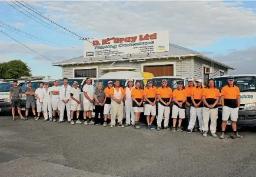
[[228, 118], [231, 118], [232, 129], [234, 132], [233, 138], [244, 138], [238, 135], [237, 119], [238, 110], [240, 107], [240, 89], [234, 85], [234, 76], [228, 76], [228, 85], [221, 89], [221, 105], [222, 105], [222, 124], [221, 124], [221, 139], [225, 138], [225, 129]]

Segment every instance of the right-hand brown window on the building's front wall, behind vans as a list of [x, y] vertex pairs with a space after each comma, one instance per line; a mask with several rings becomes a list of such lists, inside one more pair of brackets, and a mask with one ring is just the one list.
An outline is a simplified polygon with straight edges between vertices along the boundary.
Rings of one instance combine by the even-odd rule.
[[174, 65], [144, 66], [144, 72], [150, 72], [154, 76], [173, 76]]

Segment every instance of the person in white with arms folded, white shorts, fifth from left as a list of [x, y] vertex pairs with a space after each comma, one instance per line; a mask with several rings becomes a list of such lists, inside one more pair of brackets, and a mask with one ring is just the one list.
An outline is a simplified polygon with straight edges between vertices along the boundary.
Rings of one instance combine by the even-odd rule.
[[[56, 118], [60, 115], [61, 111], [61, 100], [59, 98], [59, 81], [54, 81], [54, 86], [51, 87], [51, 103], [52, 103], [52, 118], [53, 122], [56, 122]], [[56, 116], [56, 111], [58, 110], [58, 116]], [[50, 120], [51, 121], [51, 120]]]

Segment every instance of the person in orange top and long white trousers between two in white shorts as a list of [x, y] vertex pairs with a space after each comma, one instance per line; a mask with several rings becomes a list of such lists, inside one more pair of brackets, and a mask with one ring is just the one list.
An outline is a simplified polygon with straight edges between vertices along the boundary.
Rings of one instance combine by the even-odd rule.
[[167, 86], [167, 79], [162, 79], [162, 86], [157, 89], [158, 102], [158, 118], [157, 118], [157, 131], [161, 129], [162, 118], [164, 116], [164, 129], [169, 129], [169, 104], [172, 101], [172, 89]]

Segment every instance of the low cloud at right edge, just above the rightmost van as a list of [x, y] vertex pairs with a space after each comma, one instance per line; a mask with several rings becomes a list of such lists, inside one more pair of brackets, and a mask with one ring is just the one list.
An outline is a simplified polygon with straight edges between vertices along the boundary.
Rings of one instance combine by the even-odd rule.
[[255, 51], [256, 46], [252, 46], [245, 50], [232, 51], [227, 55], [215, 56], [214, 59], [233, 66], [235, 70], [230, 71], [230, 74], [255, 74]]

